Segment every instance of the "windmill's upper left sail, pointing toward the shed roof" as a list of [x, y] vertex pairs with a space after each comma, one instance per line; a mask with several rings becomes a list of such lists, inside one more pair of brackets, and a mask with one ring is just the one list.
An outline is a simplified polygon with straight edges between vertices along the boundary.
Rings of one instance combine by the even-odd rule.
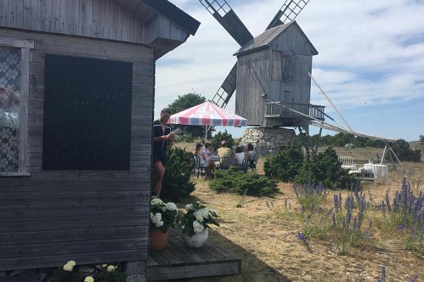
[[239, 17], [232, 11], [230, 5], [225, 0], [199, 0], [200, 3], [211, 13], [213, 18], [218, 20], [225, 30], [240, 44], [245, 45], [253, 39], [252, 34], [242, 23]]

